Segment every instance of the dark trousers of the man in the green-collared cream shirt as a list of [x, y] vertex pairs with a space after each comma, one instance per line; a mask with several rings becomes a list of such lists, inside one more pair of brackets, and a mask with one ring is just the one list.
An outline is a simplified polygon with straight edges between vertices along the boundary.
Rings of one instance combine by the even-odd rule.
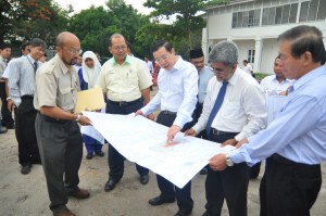
[[[142, 103], [140, 100], [137, 100], [131, 103], [126, 104], [117, 104], [115, 102], [112, 102], [108, 100], [106, 103], [106, 113], [110, 114], [121, 114], [121, 115], [128, 115], [133, 112], [138, 111], [142, 107]], [[109, 177], [114, 180], [120, 180], [124, 175], [124, 161], [125, 157], [118, 153], [112, 144], [109, 143], [109, 156], [108, 156], [108, 163], [109, 163]], [[140, 176], [148, 175], [149, 169], [142, 166], [139, 166], [136, 164], [136, 169], [139, 173]]]

